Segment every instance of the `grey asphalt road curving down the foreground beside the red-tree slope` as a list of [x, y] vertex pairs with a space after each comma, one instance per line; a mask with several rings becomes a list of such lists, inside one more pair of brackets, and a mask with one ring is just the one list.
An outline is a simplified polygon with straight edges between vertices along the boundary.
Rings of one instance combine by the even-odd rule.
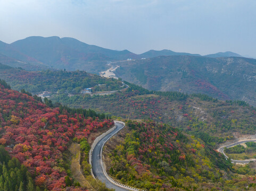
[[123, 124], [115, 122], [115, 125], [117, 128], [114, 129], [110, 134], [106, 135], [99, 141], [92, 153], [92, 168], [93, 168], [93, 174], [95, 178], [98, 178], [103, 183], [106, 184], [106, 187], [108, 188], [114, 188], [116, 191], [127, 191], [125, 188], [121, 188], [117, 185], [112, 184], [104, 175], [102, 166], [101, 166], [101, 147], [103, 146], [104, 142], [108, 140], [108, 138], [112, 137], [114, 134], [120, 131], [124, 127]]

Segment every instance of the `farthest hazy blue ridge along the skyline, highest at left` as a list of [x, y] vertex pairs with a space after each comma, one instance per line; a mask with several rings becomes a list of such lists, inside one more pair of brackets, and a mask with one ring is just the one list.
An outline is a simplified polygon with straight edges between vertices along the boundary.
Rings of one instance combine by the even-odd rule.
[[[0, 62], [16, 67], [20, 63], [26, 70], [31, 68], [42, 69], [42, 67], [59, 68], [67, 70], [86, 70], [98, 73], [105, 69], [106, 61], [117, 61], [126, 59], [153, 58], [157, 56], [189, 55], [199, 54], [177, 53], [171, 50], [150, 50], [143, 54], [134, 54], [128, 50], [111, 50], [95, 45], [88, 45], [74, 38], [60, 37], [28, 37], [22, 40], [6, 44], [0, 41]], [[5, 57], [4, 57], [5, 56]], [[232, 52], [206, 55], [208, 57], [229, 57], [240, 55]], [[7, 59], [7, 57], [9, 59]], [[14, 62], [15, 60], [15, 62]], [[104, 63], [103, 63], [104, 62]], [[35, 65], [36, 67], [31, 67]], [[34, 69], [33, 69], [34, 70]]]

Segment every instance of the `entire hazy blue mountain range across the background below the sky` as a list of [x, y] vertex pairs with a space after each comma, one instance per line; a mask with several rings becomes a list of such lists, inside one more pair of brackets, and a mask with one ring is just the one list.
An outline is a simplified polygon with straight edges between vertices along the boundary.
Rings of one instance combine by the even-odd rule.
[[0, 41], [0, 63], [25, 70], [52, 68], [94, 74], [113, 67], [117, 77], [150, 90], [200, 92], [256, 106], [256, 60], [229, 51], [201, 56], [164, 49], [137, 55], [73, 38], [28, 37], [12, 44]]

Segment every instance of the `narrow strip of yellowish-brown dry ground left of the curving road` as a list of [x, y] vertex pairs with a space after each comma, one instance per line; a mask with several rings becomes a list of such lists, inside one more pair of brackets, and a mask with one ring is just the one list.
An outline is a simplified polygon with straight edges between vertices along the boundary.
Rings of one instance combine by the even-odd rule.
[[80, 145], [77, 143], [72, 143], [69, 147], [69, 151], [72, 153], [72, 161], [71, 161], [71, 173], [73, 177], [78, 181], [81, 187], [90, 188], [90, 184], [85, 179], [84, 175], [81, 172], [80, 166]]

